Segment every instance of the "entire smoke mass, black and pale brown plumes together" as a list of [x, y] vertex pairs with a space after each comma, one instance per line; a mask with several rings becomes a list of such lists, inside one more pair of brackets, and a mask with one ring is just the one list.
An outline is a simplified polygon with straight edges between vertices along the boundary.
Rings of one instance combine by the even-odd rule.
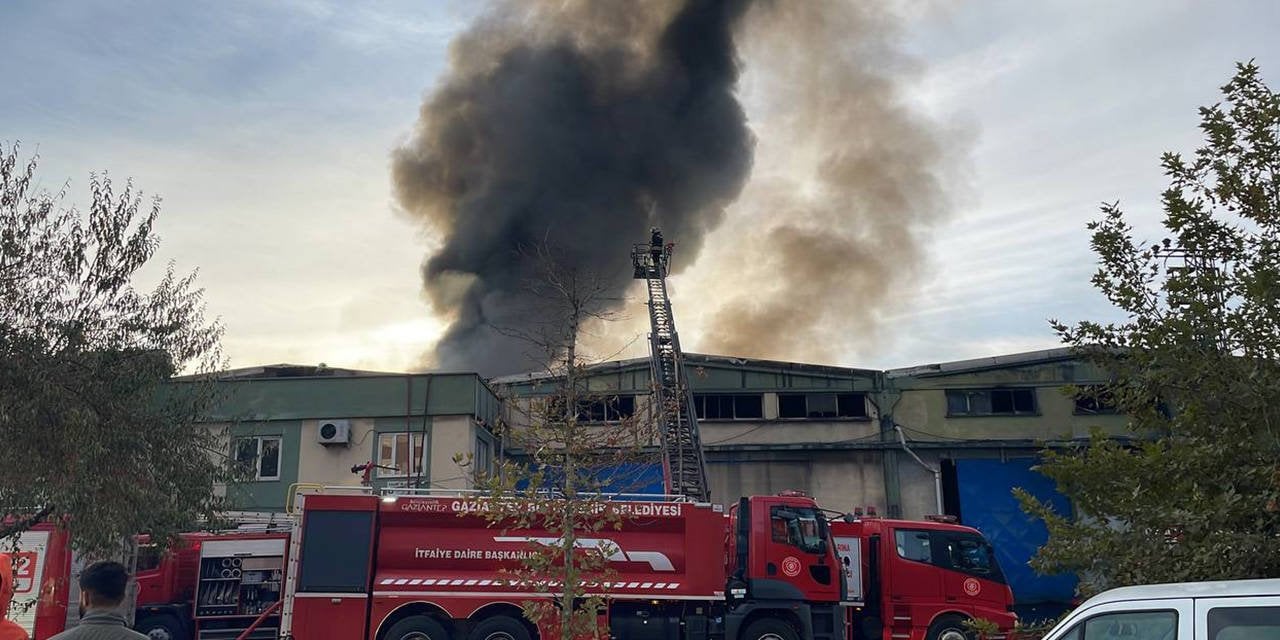
[[536, 255], [604, 278], [621, 306], [652, 225], [677, 273], [709, 257], [680, 278], [703, 320], [686, 347], [835, 364], [874, 344], [965, 151], [908, 102], [899, 23], [841, 0], [497, 4], [393, 154], [399, 206], [443, 238], [422, 266], [451, 321], [431, 364], [538, 366], [497, 330], [532, 321]]

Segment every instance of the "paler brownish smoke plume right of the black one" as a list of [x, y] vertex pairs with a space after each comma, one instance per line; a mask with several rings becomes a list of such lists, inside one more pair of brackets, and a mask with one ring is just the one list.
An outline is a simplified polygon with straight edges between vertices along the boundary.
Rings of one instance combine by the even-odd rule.
[[836, 364], [874, 351], [884, 316], [911, 298], [966, 145], [905, 96], [919, 69], [899, 22], [884, 3], [822, 0], [748, 20], [764, 122], [732, 215], [751, 233], [714, 237], [735, 251], [709, 279], [751, 285], [710, 314], [698, 349]]

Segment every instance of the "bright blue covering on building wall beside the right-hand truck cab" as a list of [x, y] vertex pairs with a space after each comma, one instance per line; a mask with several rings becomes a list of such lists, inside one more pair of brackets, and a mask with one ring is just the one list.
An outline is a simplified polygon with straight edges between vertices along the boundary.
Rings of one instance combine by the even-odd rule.
[[957, 460], [960, 520], [996, 548], [1000, 567], [1020, 605], [1069, 603], [1075, 594], [1075, 576], [1039, 576], [1028, 566], [1036, 550], [1048, 539], [1039, 520], [1018, 506], [1014, 488], [1021, 488], [1048, 502], [1059, 513], [1070, 513], [1070, 502], [1057, 493], [1053, 481], [1033, 471], [1036, 460]]

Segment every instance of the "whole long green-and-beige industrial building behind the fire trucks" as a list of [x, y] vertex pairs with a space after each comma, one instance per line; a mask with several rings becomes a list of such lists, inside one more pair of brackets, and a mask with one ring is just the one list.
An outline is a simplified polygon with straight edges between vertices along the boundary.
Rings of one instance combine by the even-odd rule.
[[[832, 509], [956, 516], [1001, 556], [1020, 603], [1061, 603], [1073, 579], [1039, 577], [1027, 559], [1043, 527], [1018, 508], [1020, 486], [1070, 509], [1032, 466], [1046, 447], [1121, 436], [1124, 416], [1076, 402], [1068, 385], [1105, 375], [1068, 349], [893, 370], [685, 355], [714, 502], [803, 489]], [[600, 428], [648, 411], [649, 360], [585, 371]], [[244, 511], [283, 511], [297, 483], [470, 486], [456, 454], [484, 468], [498, 420], [518, 428], [554, 388], [545, 375], [390, 374], [276, 365], [227, 371], [211, 428], [252, 480], [225, 488]], [[660, 488], [660, 475], [655, 477]]]

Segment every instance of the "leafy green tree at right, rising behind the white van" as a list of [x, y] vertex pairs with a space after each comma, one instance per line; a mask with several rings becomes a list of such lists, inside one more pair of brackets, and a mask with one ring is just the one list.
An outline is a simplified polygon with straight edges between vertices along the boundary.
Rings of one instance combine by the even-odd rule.
[[1222, 93], [1204, 146], [1162, 156], [1167, 238], [1137, 241], [1116, 204], [1089, 224], [1093, 283], [1125, 320], [1053, 323], [1112, 376], [1076, 393], [1133, 436], [1046, 453], [1076, 515], [1020, 494], [1050, 534], [1033, 566], [1085, 594], [1280, 572], [1280, 96], [1253, 63]]

